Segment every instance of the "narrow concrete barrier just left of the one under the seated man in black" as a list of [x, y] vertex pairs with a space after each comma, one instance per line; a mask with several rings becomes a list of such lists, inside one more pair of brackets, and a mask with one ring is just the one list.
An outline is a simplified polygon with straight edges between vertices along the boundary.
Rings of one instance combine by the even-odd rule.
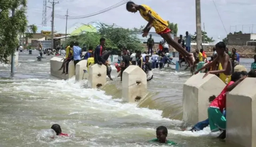
[[82, 79], [87, 79], [88, 73], [84, 73], [87, 70], [87, 60], [81, 60], [76, 64], [76, 81], [81, 81]]

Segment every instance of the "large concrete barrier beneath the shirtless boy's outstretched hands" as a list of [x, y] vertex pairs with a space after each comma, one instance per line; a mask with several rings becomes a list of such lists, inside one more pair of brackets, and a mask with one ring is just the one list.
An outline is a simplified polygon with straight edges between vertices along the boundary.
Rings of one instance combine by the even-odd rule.
[[204, 73], [190, 77], [183, 86], [183, 121], [196, 124], [208, 118], [208, 98], [218, 96], [226, 86], [216, 75]]

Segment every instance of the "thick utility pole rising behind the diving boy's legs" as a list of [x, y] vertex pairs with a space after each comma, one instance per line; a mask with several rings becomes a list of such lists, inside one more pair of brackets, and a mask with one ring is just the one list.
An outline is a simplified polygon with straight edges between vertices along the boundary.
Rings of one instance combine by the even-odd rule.
[[201, 6], [200, 0], [196, 0], [196, 46], [199, 50], [202, 43], [202, 28], [201, 28]]

